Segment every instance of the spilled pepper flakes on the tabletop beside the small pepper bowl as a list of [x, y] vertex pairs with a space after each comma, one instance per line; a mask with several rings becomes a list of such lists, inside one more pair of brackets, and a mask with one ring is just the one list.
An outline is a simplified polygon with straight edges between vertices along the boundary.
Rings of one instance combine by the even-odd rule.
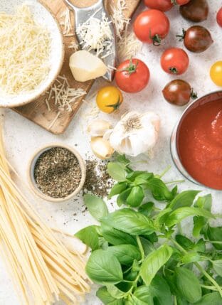
[[83, 194], [93, 193], [95, 196], [106, 197], [113, 186], [107, 172], [107, 163], [88, 159], [86, 161], [86, 179]]

